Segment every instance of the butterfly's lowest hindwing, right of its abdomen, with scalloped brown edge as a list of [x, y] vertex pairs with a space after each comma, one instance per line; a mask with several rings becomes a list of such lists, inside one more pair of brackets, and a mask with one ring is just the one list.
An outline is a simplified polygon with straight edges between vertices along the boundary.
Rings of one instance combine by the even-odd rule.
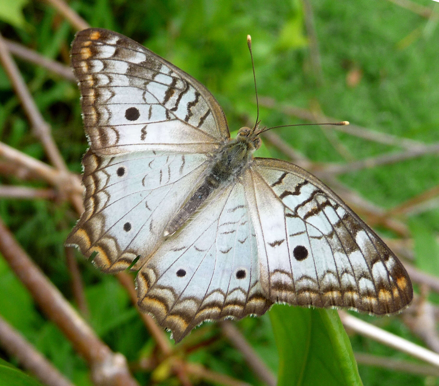
[[139, 306], [180, 341], [205, 320], [262, 315], [252, 219], [241, 184], [210, 202], [166, 240], [137, 274]]

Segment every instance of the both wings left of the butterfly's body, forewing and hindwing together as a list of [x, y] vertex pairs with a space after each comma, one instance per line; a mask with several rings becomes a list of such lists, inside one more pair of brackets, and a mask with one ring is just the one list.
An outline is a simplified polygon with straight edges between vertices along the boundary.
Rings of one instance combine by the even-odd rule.
[[[230, 137], [197, 80], [133, 40], [85, 29], [72, 43], [90, 150], [85, 212], [66, 241], [104, 271], [138, 268]], [[208, 154], [208, 155], [206, 155]]]

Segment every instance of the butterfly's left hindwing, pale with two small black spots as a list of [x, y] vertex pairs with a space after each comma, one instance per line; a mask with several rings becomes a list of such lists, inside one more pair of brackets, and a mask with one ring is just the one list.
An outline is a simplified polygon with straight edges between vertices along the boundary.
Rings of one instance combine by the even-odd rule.
[[137, 256], [140, 266], [163, 239], [169, 220], [199, 183], [202, 154], [150, 151], [83, 158], [85, 212], [68, 236], [104, 271], [121, 271]]

